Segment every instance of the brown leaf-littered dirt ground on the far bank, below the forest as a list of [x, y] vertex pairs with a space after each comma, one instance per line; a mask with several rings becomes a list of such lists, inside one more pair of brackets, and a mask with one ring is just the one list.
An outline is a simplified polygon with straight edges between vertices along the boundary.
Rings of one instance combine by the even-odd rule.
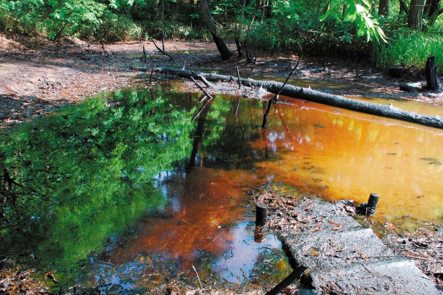
[[[141, 59], [143, 45], [147, 62]], [[161, 46], [161, 42], [158, 44]], [[231, 50], [234, 44], [229, 44]], [[191, 54], [188, 54], [191, 49]], [[130, 87], [139, 74], [132, 67], [172, 65], [207, 71], [235, 71], [242, 76], [285, 76], [299, 57], [253, 52], [256, 64], [247, 64], [246, 57], [222, 61], [213, 42], [167, 41], [165, 50], [174, 60], [161, 55], [152, 42], [120, 42], [90, 44], [67, 40], [56, 46], [42, 40], [6, 38], [0, 35], [0, 128], [50, 112], [55, 107], [76, 103], [98, 92]], [[302, 77], [321, 82], [351, 83], [371, 89], [352, 89], [340, 94], [390, 96], [443, 105], [443, 94], [412, 93], [399, 90], [401, 83], [419, 80], [408, 76], [402, 80], [365, 64], [303, 57], [298, 69]], [[310, 71], [312, 70], [312, 71]]]

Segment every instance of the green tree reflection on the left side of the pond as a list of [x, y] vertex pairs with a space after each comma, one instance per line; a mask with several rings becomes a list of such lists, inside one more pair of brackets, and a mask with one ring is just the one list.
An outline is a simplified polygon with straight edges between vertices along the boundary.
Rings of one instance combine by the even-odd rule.
[[163, 206], [152, 177], [190, 154], [194, 110], [174, 94], [126, 90], [4, 132], [2, 253], [73, 270], [106, 238]]

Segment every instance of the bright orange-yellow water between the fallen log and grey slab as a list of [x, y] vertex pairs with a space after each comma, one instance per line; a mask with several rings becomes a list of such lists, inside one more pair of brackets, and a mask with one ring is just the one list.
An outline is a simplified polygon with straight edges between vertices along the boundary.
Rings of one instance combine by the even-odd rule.
[[268, 123], [267, 145], [275, 160], [257, 164], [268, 177], [329, 200], [365, 202], [378, 193], [377, 222], [402, 215], [439, 221], [443, 166], [436, 161], [443, 160], [443, 130], [343, 109], [338, 113], [298, 99], [287, 102], [293, 106], [276, 105]]

